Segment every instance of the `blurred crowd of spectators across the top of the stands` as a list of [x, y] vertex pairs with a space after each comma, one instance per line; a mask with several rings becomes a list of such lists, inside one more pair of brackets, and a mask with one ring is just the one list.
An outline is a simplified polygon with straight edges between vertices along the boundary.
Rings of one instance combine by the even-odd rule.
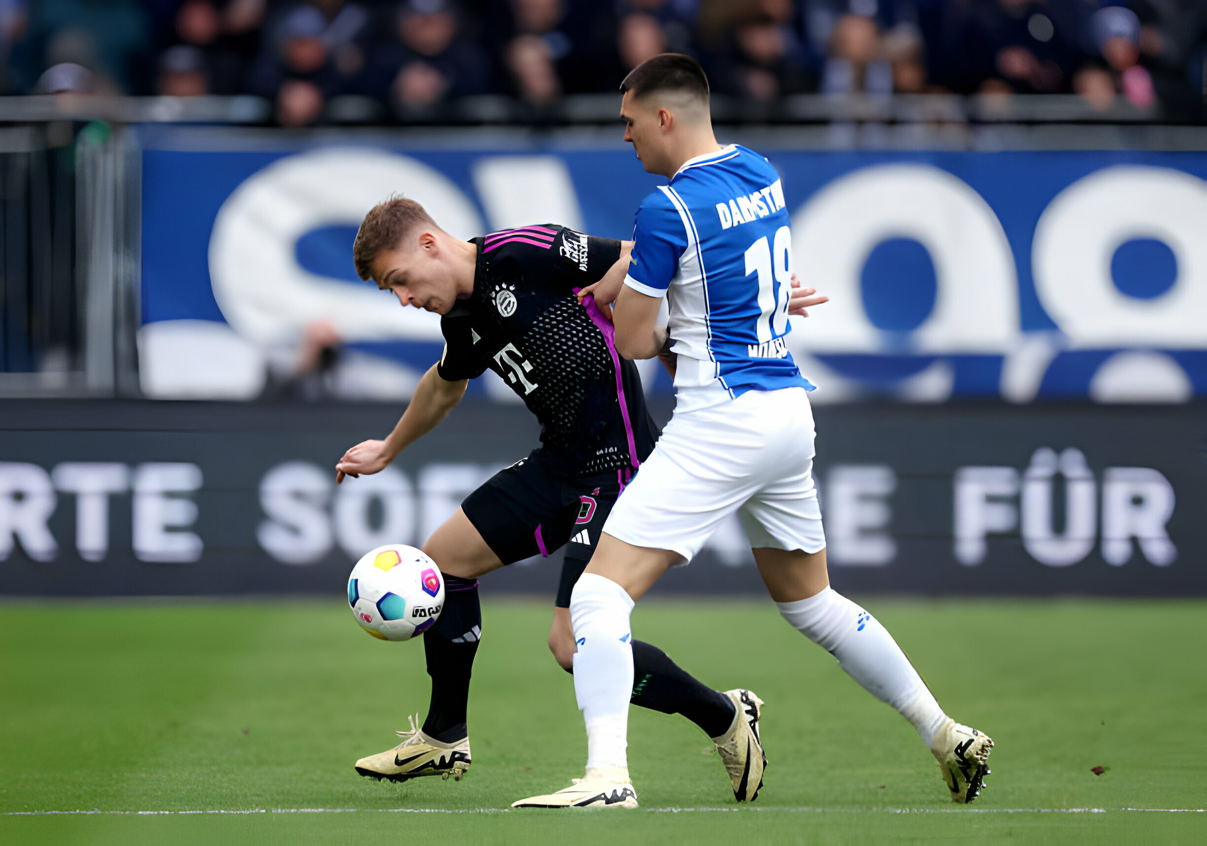
[[1207, 0], [0, 0], [7, 94], [255, 94], [290, 127], [334, 98], [378, 122], [482, 94], [540, 111], [665, 51], [748, 101], [1075, 93], [1176, 117], [1207, 100]]

